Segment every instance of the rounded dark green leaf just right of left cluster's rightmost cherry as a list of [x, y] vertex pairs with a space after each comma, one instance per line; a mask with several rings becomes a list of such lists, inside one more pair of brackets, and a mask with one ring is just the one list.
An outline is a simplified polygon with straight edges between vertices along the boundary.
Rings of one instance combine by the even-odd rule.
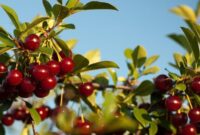
[[75, 64], [74, 72], [79, 71], [80, 69], [86, 67], [89, 64], [88, 59], [80, 54], [75, 55], [73, 61]]

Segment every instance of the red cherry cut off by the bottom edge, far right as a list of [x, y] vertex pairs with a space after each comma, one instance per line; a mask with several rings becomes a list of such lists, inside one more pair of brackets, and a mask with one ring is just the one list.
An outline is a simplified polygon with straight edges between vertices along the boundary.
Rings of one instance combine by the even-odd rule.
[[196, 127], [192, 124], [187, 124], [182, 129], [182, 135], [197, 135]]

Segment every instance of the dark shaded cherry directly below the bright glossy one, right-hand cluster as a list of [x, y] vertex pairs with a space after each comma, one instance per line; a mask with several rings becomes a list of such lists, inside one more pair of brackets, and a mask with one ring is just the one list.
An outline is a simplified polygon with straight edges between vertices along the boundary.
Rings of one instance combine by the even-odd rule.
[[172, 115], [172, 123], [174, 126], [182, 126], [187, 123], [188, 117], [186, 113], [176, 113]]

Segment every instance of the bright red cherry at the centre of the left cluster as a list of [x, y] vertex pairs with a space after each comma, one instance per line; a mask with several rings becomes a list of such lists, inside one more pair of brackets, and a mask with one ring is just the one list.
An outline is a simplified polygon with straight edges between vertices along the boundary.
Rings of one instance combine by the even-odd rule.
[[35, 80], [42, 81], [45, 78], [49, 77], [49, 69], [46, 65], [37, 65], [33, 68], [32, 72], [33, 77]]

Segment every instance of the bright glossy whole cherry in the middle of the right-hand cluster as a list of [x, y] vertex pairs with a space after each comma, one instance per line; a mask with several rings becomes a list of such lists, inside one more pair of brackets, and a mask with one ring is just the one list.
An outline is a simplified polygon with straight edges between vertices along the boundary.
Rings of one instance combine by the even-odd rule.
[[169, 96], [165, 100], [165, 107], [168, 111], [177, 111], [181, 108], [182, 101], [178, 96]]

